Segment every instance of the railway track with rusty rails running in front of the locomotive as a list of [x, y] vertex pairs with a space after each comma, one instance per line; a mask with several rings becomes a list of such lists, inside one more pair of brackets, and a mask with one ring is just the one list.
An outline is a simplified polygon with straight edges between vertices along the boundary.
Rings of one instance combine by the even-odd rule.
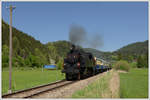
[[16, 91], [16, 92], [10, 93], [10, 94], [5, 94], [2, 96], [2, 98], [32, 98], [39, 94], [61, 88], [63, 86], [72, 84], [74, 82], [76, 82], [76, 81], [61, 80], [61, 81], [57, 81], [54, 83], [41, 85], [41, 86], [37, 86], [37, 87], [33, 87], [33, 88], [21, 90], [21, 91]]

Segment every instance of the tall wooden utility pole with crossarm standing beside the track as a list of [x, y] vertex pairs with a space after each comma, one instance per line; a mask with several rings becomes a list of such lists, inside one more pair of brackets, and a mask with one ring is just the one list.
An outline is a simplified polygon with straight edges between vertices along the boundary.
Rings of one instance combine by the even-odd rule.
[[13, 9], [15, 9], [16, 7], [10, 5], [9, 9], [10, 9], [10, 24], [9, 24], [9, 90], [8, 93], [12, 93], [12, 84], [11, 84], [11, 72], [12, 72], [12, 11]]

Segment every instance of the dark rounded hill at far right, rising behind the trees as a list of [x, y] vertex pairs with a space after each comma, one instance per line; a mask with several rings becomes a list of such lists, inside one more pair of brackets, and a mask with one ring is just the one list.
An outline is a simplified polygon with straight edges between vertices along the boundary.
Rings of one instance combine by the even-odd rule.
[[124, 46], [114, 53], [128, 54], [128, 55], [142, 55], [148, 53], [148, 40], [144, 42], [136, 42]]

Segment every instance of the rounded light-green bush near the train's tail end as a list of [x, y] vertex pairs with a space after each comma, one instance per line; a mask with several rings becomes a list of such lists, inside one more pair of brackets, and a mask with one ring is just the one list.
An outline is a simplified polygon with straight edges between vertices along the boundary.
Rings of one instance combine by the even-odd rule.
[[125, 71], [129, 71], [130, 69], [130, 65], [127, 61], [124, 61], [124, 60], [120, 60], [118, 62], [116, 62], [114, 64], [114, 68], [116, 70], [125, 70]]

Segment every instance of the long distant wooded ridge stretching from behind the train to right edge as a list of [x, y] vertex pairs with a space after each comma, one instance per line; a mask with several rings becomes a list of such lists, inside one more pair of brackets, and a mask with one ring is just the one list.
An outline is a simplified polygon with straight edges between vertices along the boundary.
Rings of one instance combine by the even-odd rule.
[[[106, 61], [111, 60], [134, 60], [137, 59], [139, 56], [148, 55], [148, 40], [144, 42], [136, 42], [124, 46], [114, 52], [102, 52], [92, 48], [85, 48], [85, 51], [93, 53], [94, 56], [104, 59]], [[120, 58], [118, 58], [120, 56]]]

